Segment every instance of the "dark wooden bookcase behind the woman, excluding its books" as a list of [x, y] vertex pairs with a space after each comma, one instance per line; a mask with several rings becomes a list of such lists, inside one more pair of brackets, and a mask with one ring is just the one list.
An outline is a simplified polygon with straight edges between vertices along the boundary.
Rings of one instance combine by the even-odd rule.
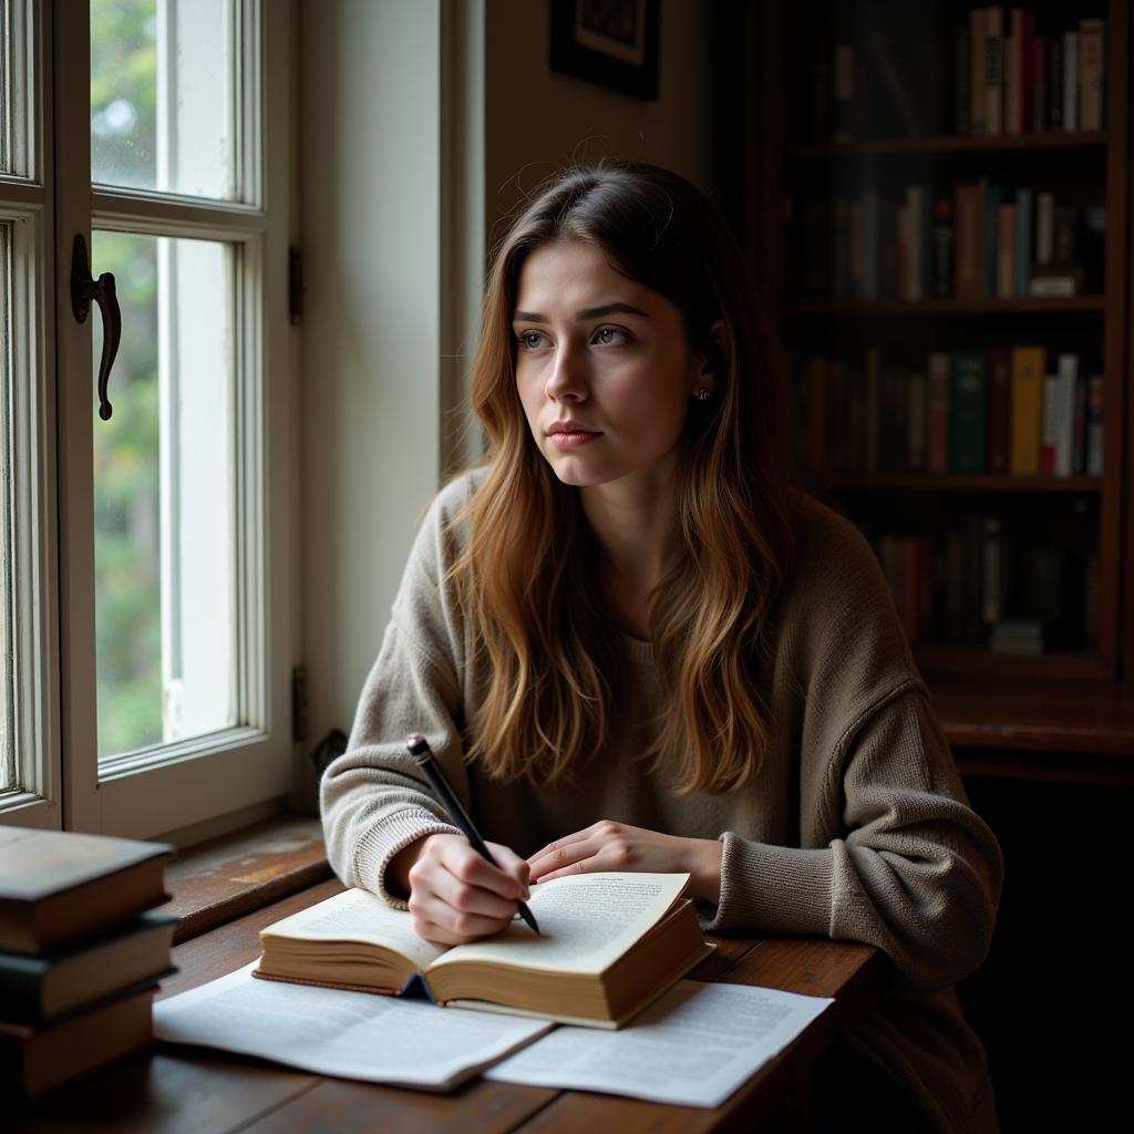
[[[1077, 28], [1083, 17], [1106, 22], [1101, 128], [1033, 130], [1025, 124], [1024, 133], [996, 136], [957, 129], [958, 29], [968, 27], [974, 7], [956, 0], [917, 6], [898, 0], [873, 5], [836, 0], [725, 5], [718, 12], [716, 40], [722, 75], [717, 178], [721, 200], [743, 230], [760, 299], [778, 329], [784, 376], [793, 388], [803, 432], [815, 428], [816, 417], [839, 422], [838, 411], [845, 408], [838, 403], [833, 411], [827, 405], [818, 414], [812, 412], [816, 398], [821, 400], [828, 389], [822, 381], [829, 378], [822, 365], [818, 371], [806, 370], [807, 359], [815, 354], [838, 359], [840, 366], [845, 363], [856, 382], [861, 379], [855, 370], [862, 369], [872, 347], [887, 363], [900, 364], [899, 373], [907, 378], [919, 366], [924, 369], [919, 359], [930, 353], [951, 356], [1024, 345], [1046, 349], [1048, 372], [1059, 354], [1070, 353], [1078, 358], [1081, 372], [1101, 375], [1101, 475], [933, 475], [895, 467], [879, 469], [877, 458], [866, 472], [861, 460], [848, 467], [844, 458], [838, 467], [824, 467], [821, 460], [815, 467], [803, 468], [801, 479], [860, 523], [875, 547], [882, 536], [900, 536], [903, 550], [913, 555], [909, 549], [921, 539], [924, 550], [917, 549], [923, 558], [917, 561], [916, 575], [932, 583], [922, 584], [919, 604], [923, 617], [912, 635], [915, 653], [936, 691], [953, 691], [967, 699], [970, 725], [980, 717], [974, 692], [1033, 691], [1038, 703], [1038, 691], [1073, 688], [1070, 696], [1080, 701], [1102, 699], [1114, 734], [1125, 736], [1131, 718], [1124, 701], [1116, 706], [1115, 696], [1116, 691], [1120, 696], [1124, 677], [1134, 672], [1134, 583], [1128, 577], [1134, 562], [1134, 459], [1127, 440], [1134, 414], [1127, 325], [1134, 256], [1129, 222], [1129, 0], [1099, 0], [1090, 7], [1048, 2], [1027, 7], [1040, 33], [1049, 36]], [[1005, 6], [1002, 12], [1007, 32], [1012, 8]], [[875, 44], [868, 46], [871, 36]], [[921, 119], [917, 136], [905, 128], [907, 121], [896, 98], [877, 73], [879, 40], [902, 81], [914, 87], [911, 101]], [[832, 87], [831, 52], [839, 42], [852, 43], [858, 59], [856, 105], [844, 104], [840, 122], [838, 108], [824, 112], [821, 105], [823, 92]], [[836, 133], [841, 134], [839, 141], [835, 141]], [[737, 137], [744, 139], [739, 150]], [[1088, 271], [1075, 295], [962, 299], [936, 297], [926, 285], [922, 297], [915, 299], [897, 298], [892, 287], [875, 285], [871, 288], [875, 298], [862, 297], [861, 288], [857, 297], [836, 296], [831, 294], [836, 290], [833, 278], [845, 280], [845, 262], [836, 272], [830, 264], [820, 262], [816, 266], [806, 254], [816, 244], [823, 247], [823, 234], [809, 243], [807, 217], [818, 208], [827, 218], [826, 235], [830, 237], [830, 218], [839, 197], [854, 201], [869, 188], [883, 201], [900, 202], [904, 188], [917, 184], [930, 191], [930, 201], [936, 201], [951, 198], [958, 185], [984, 183], [1001, 186], [1006, 202], [1017, 189], [1027, 188], [1033, 203], [1040, 193], [1051, 193], [1057, 202], [1075, 206], [1080, 218], [1088, 209], [1095, 218], [1105, 210], [1105, 237], [1095, 235], [1093, 273]], [[861, 248], [860, 243], [857, 255]], [[875, 256], [885, 259], [887, 251], [892, 255], [889, 248], [875, 249]], [[932, 253], [924, 244], [923, 251]], [[1081, 262], [1090, 251], [1086, 242], [1081, 244]], [[890, 276], [892, 284], [892, 269]], [[822, 294], [821, 285], [828, 277], [832, 285], [829, 294]], [[810, 288], [801, 286], [809, 279]], [[861, 416], [861, 408], [858, 413]], [[814, 449], [824, 460], [833, 451], [830, 433], [827, 442]], [[1000, 594], [1004, 621], [1029, 616], [1022, 603], [1025, 592], [1034, 591], [1036, 570], [1046, 564], [1058, 565], [1063, 609], [1056, 621], [1046, 625], [1044, 648], [1035, 655], [990, 649], [991, 620], [974, 628], [971, 609], [963, 611], [967, 629], [958, 634], [956, 596], [962, 584], [956, 568], [962, 552], [957, 547], [968, 556], [965, 601], [980, 603], [983, 584], [979, 575], [985, 568], [976, 549], [983, 547], [981, 539], [1000, 539], [979, 535], [987, 519], [999, 524], [1007, 549]], [[967, 544], [962, 542], [966, 527]], [[891, 541], [891, 550], [894, 545]], [[1043, 549], [1053, 550], [1047, 553]], [[946, 561], [948, 556], [951, 564]], [[906, 566], [906, 577], [914, 578], [912, 560]], [[948, 569], [954, 570], [954, 577], [946, 577]], [[954, 590], [949, 592], [948, 586]], [[953, 624], [943, 609], [947, 600]], [[1055, 731], [1059, 733], [1058, 727]], [[989, 735], [993, 733], [990, 728]], [[979, 734], [979, 725], [970, 729], [970, 735]], [[1089, 746], [1086, 738], [1072, 738], [1067, 746], [1076, 743]], [[1129, 748], [1134, 751], [1134, 734]]]

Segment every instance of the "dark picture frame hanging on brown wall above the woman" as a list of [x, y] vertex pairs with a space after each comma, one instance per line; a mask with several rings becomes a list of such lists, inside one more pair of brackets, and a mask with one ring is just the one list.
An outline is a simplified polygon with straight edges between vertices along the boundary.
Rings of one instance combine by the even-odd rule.
[[551, 69], [658, 98], [659, 0], [551, 0]]

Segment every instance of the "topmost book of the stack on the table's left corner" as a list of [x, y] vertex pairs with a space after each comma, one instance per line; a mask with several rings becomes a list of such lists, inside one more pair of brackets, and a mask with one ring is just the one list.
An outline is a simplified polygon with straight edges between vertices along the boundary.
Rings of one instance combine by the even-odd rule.
[[174, 848], [102, 835], [0, 827], [0, 950], [37, 955], [166, 902]]

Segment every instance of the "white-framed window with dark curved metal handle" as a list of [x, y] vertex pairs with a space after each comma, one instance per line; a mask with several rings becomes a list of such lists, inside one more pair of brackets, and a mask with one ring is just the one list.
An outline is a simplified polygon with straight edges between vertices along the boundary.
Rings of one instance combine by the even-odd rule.
[[[52, 417], [40, 459], [59, 508], [50, 493], [32, 497], [44, 538], [29, 567], [36, 579], [58, 576], [59, 600], [58, 610], [48, 602], [54, 632], [25, 657], [20, 619], [35, 608], [12, 559], [23, 542], [0, 531], [0, 640], [16, 636], [0, 683], [17, 691], [0, 692], [0, 816], [149, 837], [288, 790], [289, 8], [90, 0], [66, 18], [43, 8], [0, 0], [3, 50], [23, 44], [27, 74], [45, 71], [35, 65], [54, 12], [57, 75], [41, 132], [54, 161], [27, 167], [39, 197], [24, 194], [40, 246], [25, 239], [22, 252], [9, 236], [0, 263], [43, 280], [53, 264], [54, 295], [27, 325], [58, 352], [23, 375], [6, 347], [0, 374], [16, 403], [26, 384], [40, 391], [40, 416], [58, 415], [58, 448]], [[16, 68], [0, 86], [7, 139], [24, 98]], [[16, 172], [9, 155], [28, 152], [6, 141], [3, 168]], [[3, 211], [14, 185], [0, 179], [0, 226], [19, 221]], [[92, 303], [82, 323], [71, 311], [84, 251], [94, 280], [112, 274], [120, 312], [104, 398], [109, 289], [107, 310]], [[0, 333], [18, 332], [22, 316], [2, 308]], [[36, 454], [20, 449], [9, 416], [0, 473], [11, 469], [6, 499], [18, 503]], [[22, 523], [18, 507], [6, 515]], [[46, 720], [23, 734], [34, 737], [28, 771], [11, 755], [19, 721], [5, 723], [19, 716], [22, 666], [48, 691]]]

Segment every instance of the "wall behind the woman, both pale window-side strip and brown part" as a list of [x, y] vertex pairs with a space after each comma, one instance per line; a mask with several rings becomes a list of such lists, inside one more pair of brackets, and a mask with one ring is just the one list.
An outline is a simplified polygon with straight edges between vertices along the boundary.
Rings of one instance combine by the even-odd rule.
[[704, 6], [661, 9], [660, 99], [642, 102], [550, 73], [545, 0], [302, 0], [308, 751], [350, 726], [438, 486], [485, 231], [519, 187], [573, 156], [636, 158], [705, 181]]

